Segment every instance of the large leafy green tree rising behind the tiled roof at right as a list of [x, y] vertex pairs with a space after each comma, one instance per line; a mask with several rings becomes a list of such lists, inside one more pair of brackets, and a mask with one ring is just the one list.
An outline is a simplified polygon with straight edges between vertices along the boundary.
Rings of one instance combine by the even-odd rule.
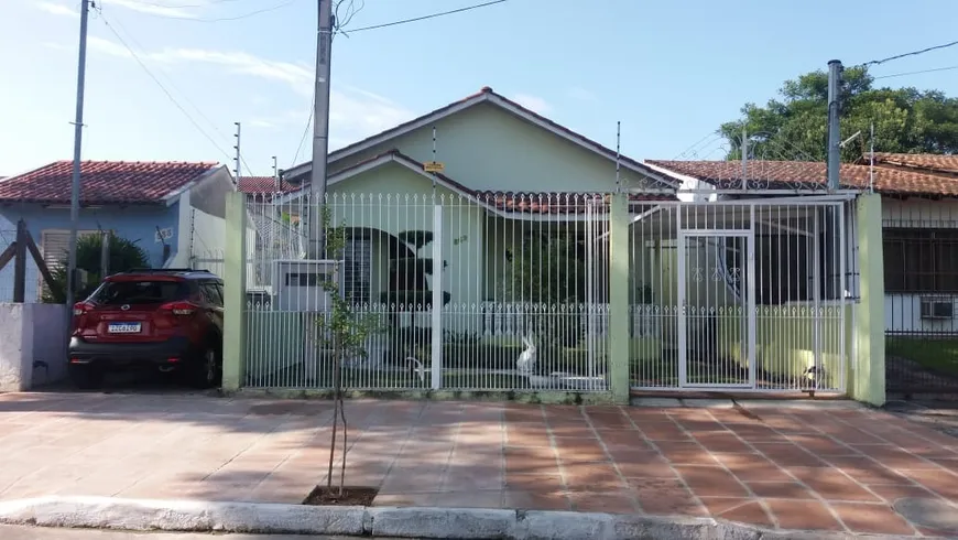
[[[847, 68], [841, 93], [841, 138], [862, 137], [841, 152], [845, 162], [869, 151], [874, 123], [877, 152], [954, 153], [958, 151], [958, 99], [938, 90], [874, 86], [861, 67]], [[719, 133], [729, 141], [730, 160], [741, 159], [742, 130], [749, 156], [760, 160], [825, 161], [828, 123], [828, 74], [807, 73], [786, 80], [780, 98], [764, 107], [745, 104], [744, 119], [726, 122]]]

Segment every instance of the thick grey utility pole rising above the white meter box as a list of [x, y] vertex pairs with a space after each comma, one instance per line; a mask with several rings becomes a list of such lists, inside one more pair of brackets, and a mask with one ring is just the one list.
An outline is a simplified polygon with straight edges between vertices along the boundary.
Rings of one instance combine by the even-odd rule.
[[326, 160], [329, 152], [329, 75], [333, 60], [333, 1], [317, 0], [319, 24], [316, 32], [316, 99], [313, 110], [313, 169], [309, 175], [309, 245], [307, 258], [323, 259], [326, 231], [323, 208], [326, 206]]

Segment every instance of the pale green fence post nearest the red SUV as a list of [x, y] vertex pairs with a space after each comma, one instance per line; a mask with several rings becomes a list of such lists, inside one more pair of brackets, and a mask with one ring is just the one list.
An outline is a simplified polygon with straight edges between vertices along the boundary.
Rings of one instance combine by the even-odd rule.
[[246, 377], [247, 205], [246, 194], [226, 196], [222, 294], [222, 389], [239, 390]]

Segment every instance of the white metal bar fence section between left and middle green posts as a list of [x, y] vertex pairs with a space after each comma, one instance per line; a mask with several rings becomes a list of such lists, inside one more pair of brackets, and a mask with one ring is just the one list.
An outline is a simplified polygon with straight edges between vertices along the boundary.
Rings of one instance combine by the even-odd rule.
[[[330, 385], [322, 294], [276, 273], [317, 207], [308, 195], [249, 198], [248, 386]], [[345, 230], [339, 278], [352, 314], [377, 321], [347, 361], [349, 388], [608, 388], [602, 199], [330, 194], [326, 207]], [[257, 220], [289, 227], [275, 251], [251, 249], [264, 241]]]

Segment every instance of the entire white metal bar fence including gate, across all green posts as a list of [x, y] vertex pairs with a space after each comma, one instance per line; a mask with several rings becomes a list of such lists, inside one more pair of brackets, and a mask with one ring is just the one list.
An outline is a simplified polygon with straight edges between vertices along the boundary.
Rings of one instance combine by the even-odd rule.
[[[350, 316], [375, 322], [346, 386], [608, 390], [608, 201], [329, 194]], [[328, 388], [328, 298], [301, 262], [319, 205], [247, 207], [246, 386]], [[843, 391], [852, 215], [828, 196], [631, 197], [632, 388]]]

